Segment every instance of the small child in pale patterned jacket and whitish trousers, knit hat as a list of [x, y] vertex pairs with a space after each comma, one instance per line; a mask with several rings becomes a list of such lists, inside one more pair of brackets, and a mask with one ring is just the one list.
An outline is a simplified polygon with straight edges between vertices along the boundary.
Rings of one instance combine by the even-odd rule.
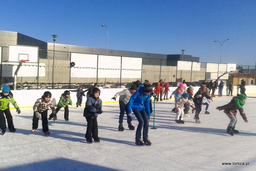
[[195, 109], [195, 107], [192, 104], [189, 103], [188, 98], [189, 98], [189, 94], [184, 93], [183, 95], [181, 95], [181, 98], [179, 98], [178, 101], [175, 103], [175, 108], [176, 108], [176, 111], [177, 111], [175, 122], [178, 123], [178, 124], [179, 123], [184, 124], [184, 121], [183, 121], [183, 115], [184, 115], [183, 107], [184, 107], [184, 104], [187, 104], [188, 106]]

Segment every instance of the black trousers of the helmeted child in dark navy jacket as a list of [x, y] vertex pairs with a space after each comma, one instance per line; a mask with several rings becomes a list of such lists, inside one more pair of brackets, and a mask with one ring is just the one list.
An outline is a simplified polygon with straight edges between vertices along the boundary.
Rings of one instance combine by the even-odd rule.
[[87, 129], [85, 133], [85, 138], [98, 138], [98, 122], [97, 117], [92, 115], [90, 117], [85, 117], [87, 121]]

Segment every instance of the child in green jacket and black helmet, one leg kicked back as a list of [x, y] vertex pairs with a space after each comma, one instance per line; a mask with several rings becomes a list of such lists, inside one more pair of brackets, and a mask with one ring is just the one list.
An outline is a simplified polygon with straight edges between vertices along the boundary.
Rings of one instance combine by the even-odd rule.
[[[72, 101], [71, 101], [71, 98], [70, 98], [70, 92], [66, 90], [66, 91], [64, 91], [63, 94], [61, 94], [58, 106], [56, 108], [56, 112], [58, 113], [59, 110], [61, 109], [61, 107], [64, 107], [64, 110], [65, 110], [64, 119], [65, 119], [65, 121], [69, 121], [69, 106], [68, 105], [72, 106]], [[57, 120], [57, 115], [56, 114], [53, 115], [53, 113], [51, 113], [49, 115], [48, 120], [51, 120], [52, 118], [53, 118], [53, 121]]]

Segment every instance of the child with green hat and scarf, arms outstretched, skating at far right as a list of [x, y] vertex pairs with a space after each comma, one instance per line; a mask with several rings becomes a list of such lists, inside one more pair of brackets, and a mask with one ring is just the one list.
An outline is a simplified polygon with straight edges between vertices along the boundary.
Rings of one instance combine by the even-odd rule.
[[218, 110], [224, 110], [224, 113], [229, 117], [230, 123], [227, 127], [227, 133], [231, 136], [239, 133], [238, 130], [235, 130], [236, 127], [236, 113], [237, 110], [240, 112], [241, 117], [243, 118], [245, 123], [248, 123], [247, 117], [245, 116], [243, 106], [245, 104], [246, 96], [244, 94], [238, 94], [238, 96], [233, 97], [232, 100], [224, 105], [216, 107]]

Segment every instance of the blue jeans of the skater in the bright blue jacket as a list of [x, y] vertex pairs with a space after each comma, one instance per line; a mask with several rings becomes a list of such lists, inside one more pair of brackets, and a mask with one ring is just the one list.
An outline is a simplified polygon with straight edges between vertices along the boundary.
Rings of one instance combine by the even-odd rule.
[[136, 116], [137, 120], [139, 121], [139, 125], [136, 130], [135, 139], [141, 139], [141, 131], [143, 128], [143, 139], [148, 138], [148, 115], [145, 109], [142, 110], [133, 110], [134, 115]]

